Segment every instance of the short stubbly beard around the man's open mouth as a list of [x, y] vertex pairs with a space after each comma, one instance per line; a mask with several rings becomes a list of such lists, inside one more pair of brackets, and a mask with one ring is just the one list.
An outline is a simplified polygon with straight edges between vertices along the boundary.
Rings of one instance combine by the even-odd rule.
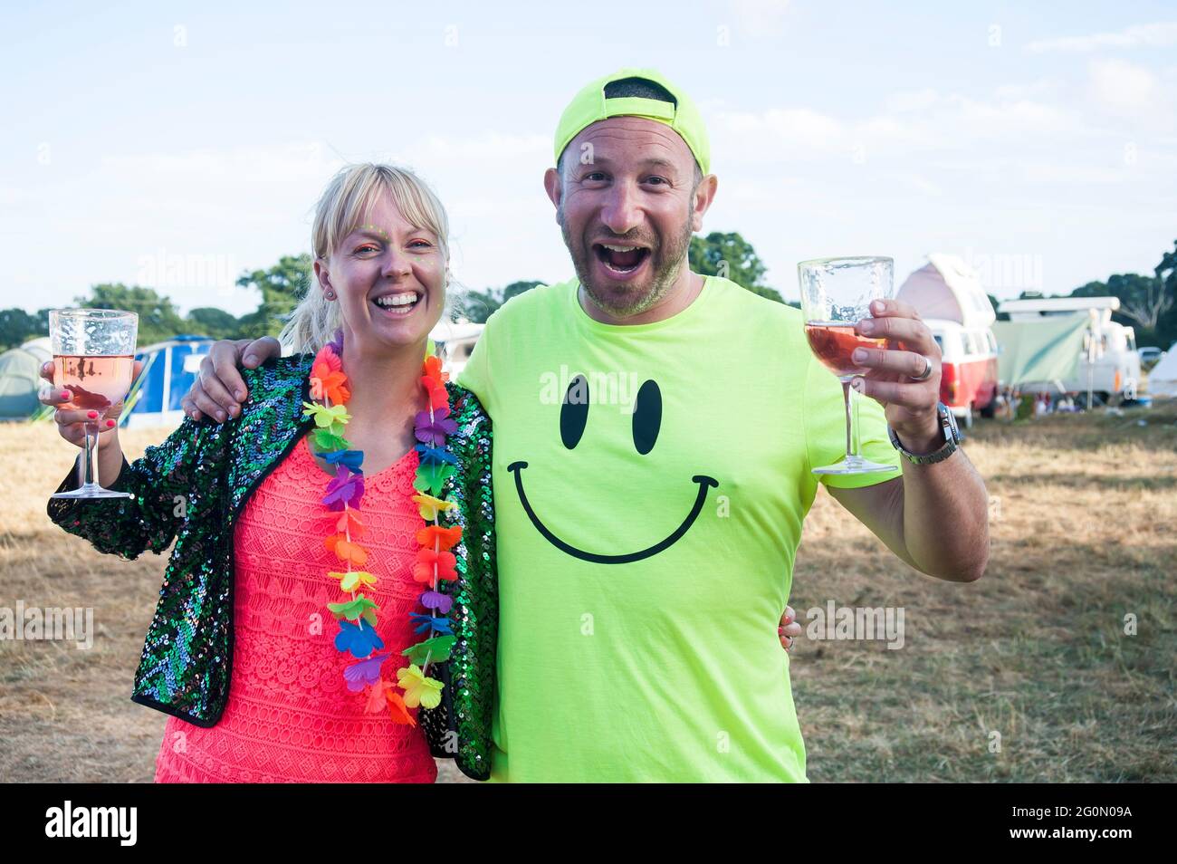
[[[611, 318], [625, 319], [639, 315], [656, 306], [670, 293], [674, 280], [678, 279], [686, 261], [687, 251], [691, 247], [691, 218], [686, 214], [681, 230], [669, 239], [666, 244], [653, 237], [643, 237], [639, 231], [631, 231], [624, 235], [610, 235], [610, 241], [617, 244], [634, 242], [650, 247], [650, 277], [645, 284], [636, 283], [624, 287], [597, 285], [593, 281], [592, 262], [596, 252], [592, 244], [587, 241], [588, 231], [581, 237], [573, 238], [568, 230], [567, 220], [564, 218], [564, 208], [556, 213], [560, 224], [560, 233], [564, 235], [564, 245], [572, 255], [572, 266], [577, 271], [577, 278], [581, 287], [588, 294], [598, 308], [609, 313]], [[605, 230], [607, 232], [607, 228]], [[594, 232], [594, 237], [601, 233]]]

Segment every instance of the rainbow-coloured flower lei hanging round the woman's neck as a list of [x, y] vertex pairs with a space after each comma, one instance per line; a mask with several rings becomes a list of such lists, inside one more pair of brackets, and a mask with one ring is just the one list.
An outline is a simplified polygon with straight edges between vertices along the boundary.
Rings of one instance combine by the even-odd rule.
[[[417, 532], [421, 547], [413, 565], [413, 579], [426, 586], [420, 596], [426, 612], [410, 613], [411, 622], [417, 625], [414, 632], [424, 634], [424, 639], [401, 652], [408, 665], [397, 670], [393, 686], [381, 672], [391, 652], [383, 651], [384, 640], [377, 633], [379, 606], [363, 593], [364, 587], [375, 585], [377, 577], [367, 570], [367, 550], [357, 543], [366, 530], [359, 517], [364, 498], [364, 453], [352, 450], [344, 438], [351, 420], [346, 408], [351, 391], [343, 370], [343, 332], [338, 332], [335, 339], [315, 354], [311, 366], [311, 398], [315, 401], [302, 403], [302, 416], [314, 418], [315, 453], [335, 467], [335, 476], [322, 497], [327, 514], [334, 519], [334, 532], [324, 545], [340, 561], [341, 569], [328, 572], [327, 577], [339, 585], [344, 599], [328, 603], [327, 609], [339, 623], [335, 649], [354, 660], [343, 672], [347, 690], [358, 693], [366, 687], [367, 712], [387, 707], [395, 723], [415, 726], [410, 709], [432, 709], [441, 702], [443, 684], [430, 678], [428, 671], [432, 664], [450, 658], [455, 640], [446, 617], [453, 598], [438, 591], [438, 585], [441, 580], [458, 578], [457, 560], [450, 550], [461, 539], [461, 527], [443, 527], [440, 523], [441, 513], [455, 506], [441, 494], [458, 461], [446, 447], [446, 436], [455, 432], [458, 425], [450, 419], [447, 375], [441, 372], [441, 360], [427, 357], [421, 368], [427, 408], [415, 418], [415, 436], [420, 441], [415, 450], [420, 460], [413, 480], [418, 494], [412, 497], [425, 520], [425, 527]], [[403, 692], [397, 692], [397, 687]]]

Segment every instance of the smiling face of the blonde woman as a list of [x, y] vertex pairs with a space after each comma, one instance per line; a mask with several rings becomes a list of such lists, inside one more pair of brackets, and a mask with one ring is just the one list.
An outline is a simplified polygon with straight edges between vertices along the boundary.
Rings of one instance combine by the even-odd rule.
[[373, 201], [367, 218], [326, 262], [314, 262], [319, 286], [335, 294], [345, 345], [383, 353], [421, 344], [445, 305], [438, 238], [406, 221], [387, 194]]

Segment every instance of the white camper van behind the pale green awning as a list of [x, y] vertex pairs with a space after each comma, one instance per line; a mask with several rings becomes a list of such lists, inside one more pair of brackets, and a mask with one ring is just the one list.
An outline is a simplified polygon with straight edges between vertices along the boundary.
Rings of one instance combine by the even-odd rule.
[[[1088, 327], [1070, 373], [1057, 381], [1040, 383], [1043, 388], [1062, 388], [1086, 397], [1090, 388], [1099, 401], [1110, 404], [1135, 399], [1141, 384], [1141, 355], [1136, 352], [1136, 331], [1111, 320], [1119, 308], [1118, 297], [1059, 297], [1051, 299], [1005, 300], [1000, 312], [1011, 321], [1040, 321], [1058, 315], [1085, 315]], [[1023, 390], [1026, 387], [1024, 386]], [[1098, 403], [1097, 403], [1098, 404]]]

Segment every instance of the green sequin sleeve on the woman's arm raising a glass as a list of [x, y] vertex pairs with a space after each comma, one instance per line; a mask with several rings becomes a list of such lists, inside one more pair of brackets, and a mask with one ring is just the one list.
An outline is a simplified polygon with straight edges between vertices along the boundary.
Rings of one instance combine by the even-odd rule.
[[[141, 459], [122, 460], [122, 470], [109, 489], [129, 492], [131, 498], [51, 498], [49, 518], [71, 534], [88, 540], [99, 552], [127, 560], [147, 550], [160, 554], [172, 545], [188, 511], [202, 505], [198, 500], [200, 490], [215, 484], [225, 437], [222, 424], [200, 424], [185, 418], [167, 440], [148, 447]], [[77, 487], [74, 470], [58, 491]]]

